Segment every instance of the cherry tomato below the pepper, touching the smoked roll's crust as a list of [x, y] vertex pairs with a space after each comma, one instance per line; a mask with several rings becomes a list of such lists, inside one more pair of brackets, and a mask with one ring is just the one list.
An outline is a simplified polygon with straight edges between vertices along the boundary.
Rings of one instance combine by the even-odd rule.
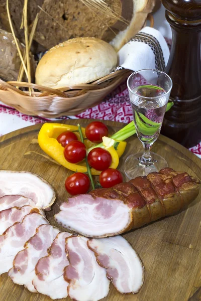
[[111, 188], [123, 182], [123, 176], [120, 171], [109, 168], [99, 175], [99, 182], [103, 188]]

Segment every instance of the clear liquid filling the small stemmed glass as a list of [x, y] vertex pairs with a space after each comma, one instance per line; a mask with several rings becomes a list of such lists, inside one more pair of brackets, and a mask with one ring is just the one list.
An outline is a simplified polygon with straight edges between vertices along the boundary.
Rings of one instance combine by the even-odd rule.
[[167, 106], [166, 91], [159, 86], [143, 85], [133, 89], [133, 92], [131, 105], [138, 138], [142, 142], [153, 143], [162, 126]]

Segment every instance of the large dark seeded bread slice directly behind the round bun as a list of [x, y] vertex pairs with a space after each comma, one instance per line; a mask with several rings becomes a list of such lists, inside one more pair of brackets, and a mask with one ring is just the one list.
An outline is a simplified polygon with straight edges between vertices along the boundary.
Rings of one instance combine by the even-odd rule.
[[[107, 0], [118, 17], [128, 24], [132, 19], [133, 0]], [[35, 39], [47, 49], [68, 39], [95, 37], [110, 42], [128, 24], [117, 22], [97, 10], [89, 9], [80, 0], [44, 0]], [[52, 18], [51, 18], [51, 17]]]

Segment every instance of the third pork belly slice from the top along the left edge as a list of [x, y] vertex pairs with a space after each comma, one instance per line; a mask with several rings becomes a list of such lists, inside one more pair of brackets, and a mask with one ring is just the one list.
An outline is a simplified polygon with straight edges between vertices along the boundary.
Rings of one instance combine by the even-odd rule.
[[43, 210], [33, 208], [30, 205], [25, 205], [22, 208], [13, 207], [0, 211], [0, 235], [2, 235], [4, 231], [11, 227], [14, 223], [22, 222], [25, 215], [29, 214], [30, 212], [38, 212], [43, 214]]

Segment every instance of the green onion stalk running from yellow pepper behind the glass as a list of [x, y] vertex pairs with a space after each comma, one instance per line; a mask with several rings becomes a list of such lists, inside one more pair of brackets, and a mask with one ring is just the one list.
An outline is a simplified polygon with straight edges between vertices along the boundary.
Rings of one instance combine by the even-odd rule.
[[[173, 106], [173, 102], [168, 102], [167, 103], [167, 107], [166, 107], [166, 112]], [[151, 120], [149, 120], [147, 118], [147, 122], [150, 123]], [[151, 125], [154, 126], [158, 125], [157, 122], [153, 122], [151, 121]], [[144, 123], [145, 125], [145, 123]], [[149, 125], [147, 124], [147, 127], [149, 127]], [[113, 134], [110, 138], [115, 139], [115, 140], [119, 140], [119, 141], [124, 141], [127, 138], [131, 137], [132, 135], [134, 135], [136, 133], [136, 129], [135, 129], [135, 124], [134, 121], [131, 121], [129, 124], [127, 124], [126, 126], [124, 126], [122, 129], [120, 129], [118, 132], [116, 132], [115, 134]], [[102, 147], [103, 146], [103, 142], [99, 143], [98, 145], [92, 146], [87, 150], [87, 153], [90, 152], [91, 149], [95, 148], [95, 147]]]

